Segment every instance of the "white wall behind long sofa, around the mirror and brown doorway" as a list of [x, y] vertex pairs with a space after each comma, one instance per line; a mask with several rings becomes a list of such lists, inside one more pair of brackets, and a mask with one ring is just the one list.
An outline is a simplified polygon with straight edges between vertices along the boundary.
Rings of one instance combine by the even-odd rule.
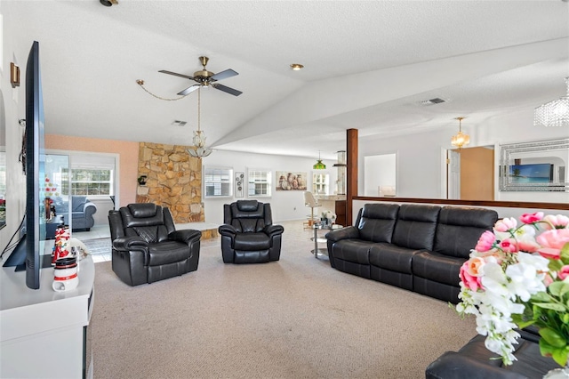
[[[489, 118], [478, 125], [463, 123], [463, 130], [470, 134], [469, 147], [508, 144], [516, 142], [545, 141], [569, 138], [567, 128], [543, 128], [533, 126], [533, 107], [510, 112], [501, 117]], [[513, 131], [513, 132], [512, 132]], [[456, 128], [449, 127], [413, 136], [373, 139], [369, 136], [359, 141], [359, 162], [364, 167], [365, 157], [388, 154], [397, 150], [397, 196], [402, 198], [441, 198], [444, 193], [444, 149], [452, 149], [451, 136]], [[496, 150], [495, 165], [500, 164], [500, 150]], [[360, 168], [360, 173], [365, 170]], [[501, 192], [498, 191], [498, 172], [495, 172], [496, 201], [533, 201], [569, 203], [567, 192]], [[363, 196], [365, 176], [358, 178], [358, 194]]]

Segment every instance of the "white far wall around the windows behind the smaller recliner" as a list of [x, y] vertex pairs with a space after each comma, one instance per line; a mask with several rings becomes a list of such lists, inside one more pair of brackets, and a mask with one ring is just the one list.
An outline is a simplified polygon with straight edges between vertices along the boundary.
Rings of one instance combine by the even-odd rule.
[[[232, 167], [234, 172], [244, 172], [247, 168], [264, 168], [273, 174], [272, 196], [270, 198], [254, 198], [263, 203], [270, 203], [273, 212], [273, 222], [303, 220], [309, 214], [309, 208], [304, 206], [304, 195], [301, 190], [276, 190], [276, 171], [291, 171], [307, 173], [307, 189], [312, 188], [312, 165], [316, 159], [305, 157], [284, 157], [264, 154], [251, 154], [236, 151], [214, 150], [212, 155], [202, 159], [203, 165], [220, 165]], [[336, 161], [326, 161], [326, 171], [330, 173], [330, 183], [336, 181], [337, 169], [333, 167]], [[246, 187], [246, 186], [245, 186]], [[333, 187], [332, 187], [333, 188]], [[245, 195], [244, 199], [248, 199]], [[205, 222], [223, 223], [223, 205], [232, 203], [237, 198], [204, 198]]]

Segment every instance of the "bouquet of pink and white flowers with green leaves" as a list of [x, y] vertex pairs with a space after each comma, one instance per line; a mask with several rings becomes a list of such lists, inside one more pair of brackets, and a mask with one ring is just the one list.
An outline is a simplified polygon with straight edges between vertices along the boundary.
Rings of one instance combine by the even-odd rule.
[[540, 351], [565, 367], [569, 355], [569, 217], [538, 212], [496, 222], [461, 267], [461, 302], [485, 347], [511, 365], [517, 328], [539, 328]]

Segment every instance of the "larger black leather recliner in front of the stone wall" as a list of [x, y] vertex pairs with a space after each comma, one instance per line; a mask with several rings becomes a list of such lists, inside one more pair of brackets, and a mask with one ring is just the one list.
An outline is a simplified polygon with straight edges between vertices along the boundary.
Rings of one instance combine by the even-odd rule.
[[112, 267], [130, 286], [197, 270], [199, 230], [176, 230], [168, 208], [130, 204], [108, 212]]

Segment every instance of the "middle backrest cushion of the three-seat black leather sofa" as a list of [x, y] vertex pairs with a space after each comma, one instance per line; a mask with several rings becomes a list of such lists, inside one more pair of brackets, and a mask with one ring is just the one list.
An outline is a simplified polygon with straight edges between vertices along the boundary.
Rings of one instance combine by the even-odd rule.
[[440, 209], [418, 204], [400, 206], [391, 242], [410, 249], [432, 250]]

